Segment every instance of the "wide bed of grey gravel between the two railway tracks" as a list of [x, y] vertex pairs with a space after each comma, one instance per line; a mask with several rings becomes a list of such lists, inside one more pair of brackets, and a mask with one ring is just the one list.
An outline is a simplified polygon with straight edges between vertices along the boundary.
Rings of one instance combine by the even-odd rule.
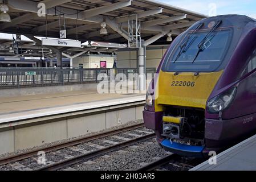
[[119, 151], [109, 152], [101, 157], [70, 166], [79, 171], [117, 171], [135, 170], [145, 163], [152, 163], [157, 158], [167, 156], [169, 152], [156, 143], [156, 139], [149, 139]]

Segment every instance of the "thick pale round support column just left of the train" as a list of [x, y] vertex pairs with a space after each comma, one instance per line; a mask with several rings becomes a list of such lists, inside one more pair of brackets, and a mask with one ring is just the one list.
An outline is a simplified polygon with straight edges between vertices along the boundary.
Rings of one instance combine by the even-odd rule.
[[144, 72], [144, 59], [145, 59], [145, 52], [144, 47], [139, 48], [138, 51], [138, 61], [139, 61], [139, 90], [145, 90], [145, 83], [146, 83], [146, 75]]

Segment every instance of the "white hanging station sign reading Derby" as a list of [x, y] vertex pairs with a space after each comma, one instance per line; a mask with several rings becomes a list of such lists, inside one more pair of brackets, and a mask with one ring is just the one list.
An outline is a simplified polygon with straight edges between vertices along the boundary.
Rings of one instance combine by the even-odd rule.
[[66, 39], [42, 39], [43, 46], [60, 46], [60, 47], [81, 47], [81, 42], [78, 40]]

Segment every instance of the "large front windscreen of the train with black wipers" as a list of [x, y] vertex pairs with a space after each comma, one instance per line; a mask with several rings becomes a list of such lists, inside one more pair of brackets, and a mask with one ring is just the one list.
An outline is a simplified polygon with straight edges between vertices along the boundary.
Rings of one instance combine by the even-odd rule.
[[188, 33], [166, 56], [162, 71], [213, 72], [223, 63], [231, 30]]

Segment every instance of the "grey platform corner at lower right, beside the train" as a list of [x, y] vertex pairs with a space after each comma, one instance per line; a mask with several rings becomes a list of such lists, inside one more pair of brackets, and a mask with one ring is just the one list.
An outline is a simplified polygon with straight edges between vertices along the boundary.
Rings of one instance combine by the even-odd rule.
[[208, 160], [190, 171], [256, 171], [256, 135], [217, 155], [217, 164]]

